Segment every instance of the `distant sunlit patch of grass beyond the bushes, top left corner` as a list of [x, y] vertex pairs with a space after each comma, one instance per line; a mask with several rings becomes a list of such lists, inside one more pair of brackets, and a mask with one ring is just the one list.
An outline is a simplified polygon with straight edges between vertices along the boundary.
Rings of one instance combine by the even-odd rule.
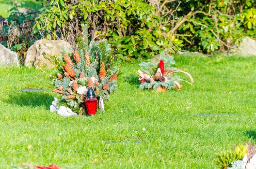
[[4, 18], [9, 16], [9, 10], [15, 7], [14, 2], [19, 4], [18, 8], [39, 8], [41, 2], [36, 0], [0, 0], [0, 15]]

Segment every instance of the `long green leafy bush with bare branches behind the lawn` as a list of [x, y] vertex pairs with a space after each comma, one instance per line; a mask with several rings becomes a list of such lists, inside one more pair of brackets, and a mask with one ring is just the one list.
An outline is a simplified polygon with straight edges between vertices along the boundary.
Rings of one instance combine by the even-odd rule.
[[255, 7], [256, 0], [49, 0], [34, 30], [75, 43], [88, 24], [92, 42], [107, 38], [120, 56], [212, 53], [255, 36]]

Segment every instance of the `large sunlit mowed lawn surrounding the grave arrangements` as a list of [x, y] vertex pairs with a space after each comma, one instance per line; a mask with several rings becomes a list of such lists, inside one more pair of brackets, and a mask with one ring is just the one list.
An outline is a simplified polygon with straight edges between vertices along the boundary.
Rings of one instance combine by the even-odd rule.
[[139, 67], [126, 64], [105, 112], [67, 118], [49, 112], [50, 90], [20, 91], [52, 89], [41, 70], [0, 69], [0, 168], [27, 162], [64, 169], [213, 169], [215, 153], [255, 142], [256, 57], [175, 59], [192, 74], [193, 86], [141, 91]]

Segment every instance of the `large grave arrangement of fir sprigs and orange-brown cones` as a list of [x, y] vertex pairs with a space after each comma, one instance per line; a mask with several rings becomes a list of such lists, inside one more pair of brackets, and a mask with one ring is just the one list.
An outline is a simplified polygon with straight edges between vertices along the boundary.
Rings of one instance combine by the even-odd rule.
[[77, 46], [64, 52], [63, 57], [45, 56], [58, 70], [51, 76], [56, 87], [52, 91], [59, 94], [58, 106], [70, 108], [77, 114], [86, 113], [85, 99], [89, 88], [94, 90], [99, 108], [104, 110], [103, 100], [116, 91], [117, 70], [120, 69], [113, 64], [110, 44], [101, 40], [89, 45], [87, 34], [85, 28]]

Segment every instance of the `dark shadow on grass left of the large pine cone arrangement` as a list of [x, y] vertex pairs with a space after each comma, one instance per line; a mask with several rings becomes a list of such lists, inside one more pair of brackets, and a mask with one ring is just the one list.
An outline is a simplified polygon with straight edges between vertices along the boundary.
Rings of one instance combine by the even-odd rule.
[[44, 91], [17, 91], [10, 93], [9, 99], [6, 99], [5, 102], [20, 106], [44, 106], [49, 109], [53, 100], [54, 98]]

